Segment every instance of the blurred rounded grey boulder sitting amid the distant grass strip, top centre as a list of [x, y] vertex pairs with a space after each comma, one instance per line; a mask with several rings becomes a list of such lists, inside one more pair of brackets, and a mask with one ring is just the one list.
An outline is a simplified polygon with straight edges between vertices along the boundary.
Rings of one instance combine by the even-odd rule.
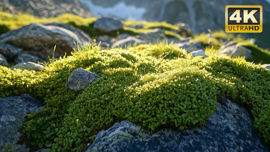
[[93, 27], [102, 32], [110, 32], [122, 29], [123, 24], [121, 20], [118, 20], [116, 18], [102, 17], [94, 21]]

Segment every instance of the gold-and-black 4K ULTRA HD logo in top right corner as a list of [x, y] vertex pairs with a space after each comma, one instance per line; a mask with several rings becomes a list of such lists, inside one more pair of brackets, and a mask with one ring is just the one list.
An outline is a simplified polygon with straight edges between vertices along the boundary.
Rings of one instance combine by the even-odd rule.
[[261, 5], [226, 5], [226, 32], [261, 32]]

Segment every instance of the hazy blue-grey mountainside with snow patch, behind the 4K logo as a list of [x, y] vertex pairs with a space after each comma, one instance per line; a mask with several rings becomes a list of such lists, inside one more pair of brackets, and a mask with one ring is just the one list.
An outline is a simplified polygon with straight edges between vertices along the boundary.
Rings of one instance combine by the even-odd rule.
[[263, 31], [242, 33], [253, 37], [262, 47], [270, 48], [270, 3], [266, 0], [80, 0], [96, 16], [114, 16], [121, 19], [183, 22], [195, 32], [208, 29], [224, 30], [226, 5], [262, 5]]

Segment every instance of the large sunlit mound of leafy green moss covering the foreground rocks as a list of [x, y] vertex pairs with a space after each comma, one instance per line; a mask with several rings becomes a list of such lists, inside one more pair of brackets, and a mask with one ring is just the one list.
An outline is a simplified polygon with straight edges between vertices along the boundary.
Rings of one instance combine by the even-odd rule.
[[[41, 71], [0, 66], [1, 97], [29, 93], [46, 103], [27, 116], [20, 142], [32, 149], [80, 151], [98, 131], [124, 119], [152, 132], [199, 127], [217, 108], [217, 98], [228, 96], [251, 111], [258, 135], [270, 143], [266, 68], [239, 57], [192, 57], [167, 43], [99, 48], [84, 46], [72, 56], [50, 60]], [[79, 67], [101, 77], [75, 92], [66, 80]]]

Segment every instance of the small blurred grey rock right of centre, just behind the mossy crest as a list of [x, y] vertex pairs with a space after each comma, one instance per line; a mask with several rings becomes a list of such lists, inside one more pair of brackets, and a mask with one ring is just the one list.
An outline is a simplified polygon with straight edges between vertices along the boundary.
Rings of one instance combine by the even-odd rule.
[[204, 46], [201, 45], [199, 41], [189, 42], [189, 38], [186, 38], [176, 44], [178, 47], [186, 50], [187, 53], [191, 51], [196, 51], [199, 49], [204, 49]]

